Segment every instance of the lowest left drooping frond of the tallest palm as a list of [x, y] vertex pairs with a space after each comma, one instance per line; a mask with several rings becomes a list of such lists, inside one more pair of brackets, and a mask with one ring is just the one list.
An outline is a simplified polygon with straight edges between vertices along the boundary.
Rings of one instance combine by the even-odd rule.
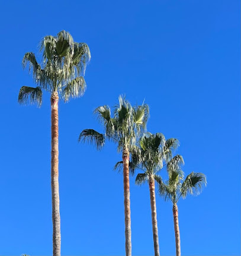
[[20, 104], [34, 104], [36, 103], [38, 107], [42, 104], [42, 91], [40, 87], [27, 87], [23, 86], [18, 94], [18, 103]]

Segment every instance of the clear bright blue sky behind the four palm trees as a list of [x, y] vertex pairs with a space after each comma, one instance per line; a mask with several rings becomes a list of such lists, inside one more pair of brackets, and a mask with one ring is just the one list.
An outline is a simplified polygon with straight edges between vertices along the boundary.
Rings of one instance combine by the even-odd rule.
[[[208, 186], [179, 202], [183, 255], [240, 254], [239, 1], [2, 1], [0, 255], [51, 255], [50, 95], [20, 106], [25, 52], [69, 31], [92, 53], [88, 89], [59, 106], [63, 255], [124, 255], [123, 178], [115, 145], [78, 144], [119, 94], [150, 106], [152, 133], [181, 142], [185, 173]], [[40, 56], [38, 56], [40, 60]], [[149, 191], [131, 178], [133, 255], [153, 255]], [[161, 255], [175, 254], [172, 206], [157, 198]]]

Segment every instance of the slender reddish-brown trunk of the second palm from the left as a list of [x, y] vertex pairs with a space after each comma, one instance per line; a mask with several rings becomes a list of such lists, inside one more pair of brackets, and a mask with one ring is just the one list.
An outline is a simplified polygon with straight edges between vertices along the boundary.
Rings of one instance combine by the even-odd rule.
[[130, 181], [129, 181], [129, 151], [123, 149], [123, 175], [124, 175], [124, 210], [125, 210], [125, 236], [126, 256], [131, 256], [131, 228], [130, 228]]

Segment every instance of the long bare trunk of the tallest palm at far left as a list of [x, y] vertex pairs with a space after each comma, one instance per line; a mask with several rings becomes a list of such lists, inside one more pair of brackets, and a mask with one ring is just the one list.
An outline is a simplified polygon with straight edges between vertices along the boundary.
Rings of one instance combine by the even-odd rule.
[[53, 256], [60, 256], [60, 213], [59, 213], [59, 96], [54, 91], [51, 101], [51, 188], [52, 188], [52, 222], [53, 222]]

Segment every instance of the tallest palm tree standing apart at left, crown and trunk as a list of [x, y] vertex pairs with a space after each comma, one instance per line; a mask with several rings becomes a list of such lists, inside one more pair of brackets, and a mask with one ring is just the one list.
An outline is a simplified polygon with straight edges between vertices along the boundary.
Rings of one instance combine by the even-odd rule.
[[53, 221], [53, 255], [60, 256], [60, 213], [59, 213], [59, 96], [65, 102], [70, 97], [79, 97], [85, 91], [83, 78], [85, 67], [91, 58], [86, 43], [76, 43], [66, 31], [57, 36], [46, 36], [41, 40], [40, 52], [43, 61], [38, 64], [33, 52], [27, 52], [23, 58], [23, 67], [29, 64], [33, 71], [36, 88], [23, 86], [18, 95], [18, 102], [37, 103], [41, 106], [42, 90], [51, 93], [51, 187], [52, 187], [52, 221]]

